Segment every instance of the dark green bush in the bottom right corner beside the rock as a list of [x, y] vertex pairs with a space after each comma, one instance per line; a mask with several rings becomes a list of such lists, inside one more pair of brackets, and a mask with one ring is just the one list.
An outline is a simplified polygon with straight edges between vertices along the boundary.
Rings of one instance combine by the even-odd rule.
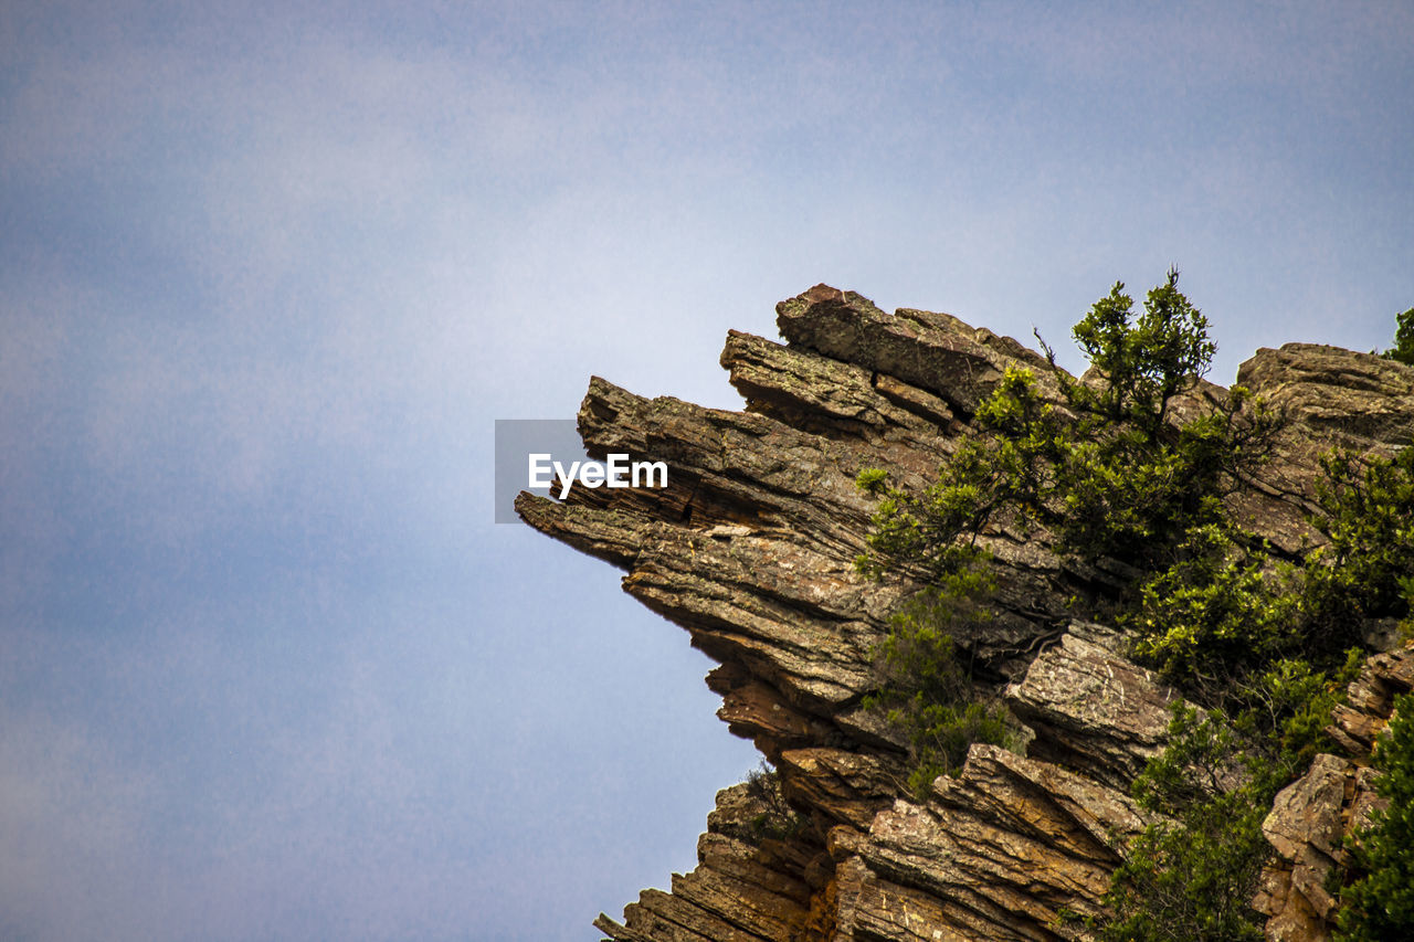
[[1414, 938], [1414, 694], [1398, 697], [1394, 709], [1374, 751], [1374, 767], [1383, 772], [1374, 788], [1389, 806], [1370, 816], [1355, 842], [1363, 877], [1342, 900], [1342, 942]]

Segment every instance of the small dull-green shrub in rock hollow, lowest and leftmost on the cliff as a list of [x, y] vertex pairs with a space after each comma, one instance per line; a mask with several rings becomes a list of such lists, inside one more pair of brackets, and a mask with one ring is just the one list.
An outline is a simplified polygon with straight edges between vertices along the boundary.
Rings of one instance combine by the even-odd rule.
[[953, 639], [956, 631], [991, 618], [976, 601], [988, 588], [976, 569], [945, 577], [894, 614], [877, 652], [880, 692], [865, 706], [884, 710], [908, 734], [913, 760], [908, 784], [919, 798], [935, 778], [962, 769], [973, 743], [1017, 741], [1015, 723], [1005, 707], [978, 694]]

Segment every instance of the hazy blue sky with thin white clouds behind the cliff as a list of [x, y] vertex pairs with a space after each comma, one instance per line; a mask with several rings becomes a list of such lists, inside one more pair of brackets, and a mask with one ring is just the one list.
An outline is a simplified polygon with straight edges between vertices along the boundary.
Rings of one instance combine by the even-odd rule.
[[758, 757], [495, 420], [820, 281], [1383, 349], [1410, 89], [1397, 1], [6, 3], [0, 938], [598, 938]]

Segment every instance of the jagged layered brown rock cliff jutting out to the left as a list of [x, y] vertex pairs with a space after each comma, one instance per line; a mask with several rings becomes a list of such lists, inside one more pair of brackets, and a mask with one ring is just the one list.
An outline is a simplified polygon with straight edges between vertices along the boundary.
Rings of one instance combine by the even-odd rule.
[[[590, 453], [667, 461], [669, 488], [516, 502], [536, 529], [624, 569], [625, 591], [720, 663], [707, 676], [718, 716], [776, 765], [802, 816], [764, 837], [751, 789], [723, 791], [697, 868], [674, 876], [672, 892], [645, 891], [622, 922], [595, 925], [617, 942], [1085, 938], [1060, 912], [1097, 911], [1116, 849], [1144, 827], [1128, 784], [1162, 748], [1174, 697], [1123, 656], [1113, 629], [1069, 610], [1111, 590], [1123, 564], [1076, 564], [1044, 536], [986, 537], [998, 617], [957, 641], [1035, 733], [1025, 757], [974, 745], [962, 777], [918, 802], [902, 786], [902, 743], [860, 706], [887, 618], [918, 586], [854, 573], [872, 509], [855, 475], [878, 467], [923, 487], [1008, 365], [1055, 396], [1051, 368], [947, 314], [889, 315], [826, 286], [776, 311], [785, 345], [732, 331], [721, 354], [745, 412], [590, 382]], [[1291, 424], [1234, 511], [1290, 552], [1314, 536], [1304, 515], [1321, 451], [1387, 451], [1414, 436], [1414, 371], [1376, 356], [1291, 344], [1258, 351], [1239, 382]], [[1184, 407], [1216, 392], [1203, 386]], [[1335, 717], [1349, 755], [1321, 757], [1278, 796], [1266, 829], [1277, 856], [1257, 900], [1270, 938], [1328, 938], [1325, 874], [1373, 801], [1370, 743], [1411, 686], [1414, 649], [1372, 659]]]

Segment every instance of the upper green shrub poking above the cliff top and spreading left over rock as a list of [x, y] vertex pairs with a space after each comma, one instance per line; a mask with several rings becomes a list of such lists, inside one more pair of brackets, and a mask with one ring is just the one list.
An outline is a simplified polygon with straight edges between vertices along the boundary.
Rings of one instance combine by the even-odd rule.
[[1169, 423], [1171, 400], [1215, 351], [1176, 284], [1169, 272], [1140, 315], [1118, 283], [1090, 308], [1073, 335], [1093, 376], [1056, 371], [1065, 403], [1046, 402], [1029, 369], [1010, 368], [974, 417], [986, 434], [966, 440], [922, 494], [864, 471], [860, 488], [882, 499], [860, 569], [877, 576], [906, 560], [956, 571], [980, 556], [988, 525], [1044, 525], [1065, 552], [1147, 570], [1189, 528], [1222, 519], [1220, 496], [1261, 460], [1278, 417], [1234, 388], [1203, 417]]

